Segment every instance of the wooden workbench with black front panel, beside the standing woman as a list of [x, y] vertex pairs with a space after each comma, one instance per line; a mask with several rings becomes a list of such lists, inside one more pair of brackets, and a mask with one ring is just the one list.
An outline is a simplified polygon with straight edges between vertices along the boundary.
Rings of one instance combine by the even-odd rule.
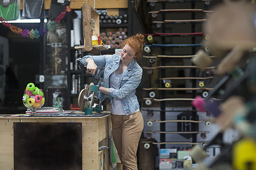
[[[26, 155], [31, 155], [32, 153], [32, 151], [30, 151], [30, 148], [24, 148], [23, 146], [31, 142], [31, 139], [29, 138], [27, 139], [27, 135], [35, 133], [36, 128], [44, 127], [44, 125], [47, 125], [47, 126], [54, 125], [52, 126], [54, 129], [53, 131], [51, 131], [51, 133], [55, 133], [55, 131], [61, 131], [61, 129], [62, 130], [67, 129], [67, 127], [72, 127], [71, 128], [73, 129], [72, 134], [75, 131], [75, 134], [77, 134], [78, 139], [80, 134], [80, 138], [81, 138], [80, 142], [75, 141], [77, 147], [73, 147], [73, 145], [69, 146], [69, 139], [65, 141], [66, 140], [65, 137], [70, 136], [68, 133], [65, 133], [65, 131], [64, 131], [64, 135], [60, 137], [58, 137], [56, 133], [53, 134], [53, 138], [57, 138], [57, 137], [61, 138], [59, 139], [59, 141], [62, 140], [60, 143], [64, 143], [65, 145], [67, 144], [68, 145], [67, 147], [71, 147], [72, 151], [74, 150], [74, 148], [81, 148], [80, 152], [75, 153], [75, 157], [77, 157], [75, 162], [80, 162], [78, 163], [80, 164], [78, 165], [78, 167], [80, 166], [80, 168], [75, 168], [75, 169], [83, 169], [83, 170], [84, 169], [90, 169], [90, 170], [110, 169], [111, 165], [109, 163], [110, 162], [109, 149], [107, 148], [107, 149], [98, 151], [99, 146], [108, 146], [108, 143], [109, 143], [108, 137], [112, 129], [110, 114], [100, 113], [100, 114], [95, 114], [96, 115], [95, 117], [93, 116], [94, 114], [89, 116], [86, 116], [85, 114], [82, 116], [79, 116], [78, 114], [74, 114], [74, 116], [72, 116], [71, 114], [67, 114], [67, 115], [68, 116], [65, 116], [65, 114], [62, 114], [60, 116], [56, 114], [53, 116], [19, 115], [19, 117], [0, 117], [0, 169], [4, 169], [4, 170], [19, 169], [18, 166], [20, 164], [20, 160], [15, 160], [15, 159], [18, 158], [20, 154], [22, 154], [22, 156], [20, 157], [26, 157]], [[57, 127], [56, 125], [57, 126], [60, 125], [60, 128], [56, 128]], [[24, 128], [20, 128], [20, 127], [24, 127]], [[31, 128], [31, 127], [35, 127], [35, 128]], [[43, 130], [45, 129], [46, 128], [44, 128]], [[23, 131], [25, 130], [27, 130], [27, 133], [22, 134]], [[46, 134], [44, 137], [42, 137], [42, 135], [44, 135], [43, 133], [42, 135], [41, 133], [33, 134], [34, 136], [32, 136], [32, 141], [38, 139], [38, 143], [36, 142], [34, 146], [40, 145], [41, 141], [44, 141], [44, 139], [51, 137], [51, 133]], [[54, 150], [55, 147], [58, 147], [59, 144], [57, 144], [56, 146], [57, 139], [54, 139], [54, 140], [52, 139], [52, 141], [55, 141], [55, 144], [54, 144], [55, 146], [51, 148], [52, 150]], [[72, 142], [74, 142], [74, 140]], [[24, 153], [19, 153], [20, 152], [18, 148], [19, 145], [22, 146], [20, 147], [20, 149]], [[51, 145], [51, 142], [49, 142], [47, 145]], [[33, 150], [35, 150], [34, 147], [31, 147], [31, 150], [32, 148]], [[44, 149], [41, 149], [40, 152], [42, 152], [42, 150]], [[35, 156], [39, 155], [38, 153], [35, 154], [34, 151], [33, 151], [33, 154], [34, 156], [32, 158], [35, 158]], [[42, 155], [42, 153], [40, 154]], [[80, 158], [77, 155], [81, 155]], [[58, 163], [58, 161], [59, 160], [56, 160], [55, 163]], [[33, 162], [35, 162], [35, 160]], [[67, 164], [67, 161], [65, 161], [65, 159], [61, 159], [61, 162], [63, 162], [64, 165]], [[24, 164], [24, 161], [23, 161], [23, 164]], [[33, 164], [32, 161], [31, 161], [31, 164]], [[63, 164], [61, 163], [57, 165], [57, 167], [59, 167], [60, 169], [65, 169], [63, 168]], [[28, 169], [35, 169], [30, 167], [30, 165], [26, 165], [26, 166], [28, 167]], [[52, 169], [52, 167], [47, 169]], [[58, 168], [55, 167], [54, 169], [58, 169]]]

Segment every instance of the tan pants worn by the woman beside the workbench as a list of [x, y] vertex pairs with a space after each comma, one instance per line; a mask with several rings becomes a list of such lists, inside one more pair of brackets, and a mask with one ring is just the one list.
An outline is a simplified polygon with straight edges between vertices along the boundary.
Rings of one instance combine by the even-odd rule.
[[141, 111], [128, 116], [111, 115], [112, 133], [124, 170], [137, 170], [137, 149], [144, 127]]

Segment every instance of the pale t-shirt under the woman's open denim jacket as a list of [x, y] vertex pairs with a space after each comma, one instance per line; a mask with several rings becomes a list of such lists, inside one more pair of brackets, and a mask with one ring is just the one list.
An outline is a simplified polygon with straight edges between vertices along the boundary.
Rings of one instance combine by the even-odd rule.
[[[118, 89], [118, 83], [121, 74], [114, 73], [109, 77], [109, 84], [111, 88]], [[123, 104], [121, 100], [114, 99], [111, 104], [111, 113], [115, 115], [126, 115], [125, 109], [123, 109]]]

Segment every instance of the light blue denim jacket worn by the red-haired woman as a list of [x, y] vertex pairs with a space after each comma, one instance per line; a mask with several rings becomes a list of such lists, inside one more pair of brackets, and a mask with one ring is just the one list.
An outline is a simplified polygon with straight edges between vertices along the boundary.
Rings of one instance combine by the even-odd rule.
[[[141, 83], [141, 66], [139, 66], [138, 63], [134, 61], [134, 59], [132, 59], [129, 63], [129, 66], [122, 73], [119, 79], [119, 89], [114, 89], [109, 87], [109, 76], [118, 69], [121, 56], [118, 56], [117, 54], [103, 56], [84, 56], [77, 60], [86, 66], [87, 64], [85, 61], [88, 57], [92, 58], [97, 66], [105, 67], [103, 86], [109, 88], [110, 103], [112, 103], [113, 99], [121, 100], [126, 115], [138, 111], [139, 102], [137, 96], [135, 95], [135, 92], [136, 88], [139, 86], [139, 83]], [[105, 99], [105, 94], [100, 92], [98, 97], [102, 101]]]

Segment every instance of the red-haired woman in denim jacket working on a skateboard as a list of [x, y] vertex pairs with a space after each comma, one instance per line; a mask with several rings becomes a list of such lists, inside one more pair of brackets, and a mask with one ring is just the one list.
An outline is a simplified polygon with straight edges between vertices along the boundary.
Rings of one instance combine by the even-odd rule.
[[137, 148], [143, 130], [143, 117], [135, 89], [142, 78], [142, 68], [135, 61], [143, 50], [144, 35], [137, 33], [122, 44], [121, 56], [85, 56], [78, 60], [94, 75], [104, 66], [104, 86], [98, 87], [99, 99], [110, 97], [112, 133], [123, 169], [137, 168]]

